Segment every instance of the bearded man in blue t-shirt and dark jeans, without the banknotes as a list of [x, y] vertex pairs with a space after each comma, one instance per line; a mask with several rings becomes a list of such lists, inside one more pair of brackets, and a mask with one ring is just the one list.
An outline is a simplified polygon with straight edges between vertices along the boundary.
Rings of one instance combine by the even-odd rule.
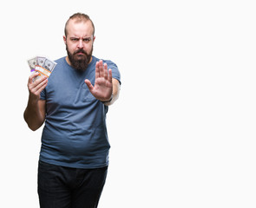
[[95, 27], [76, 13], [65, 25], [68, 55], [49, 76], [30, 75], [24, 120], [35, 131], [45, 121], [38, 165], [41, 207], [97, 207], [108, 169], [106, 114], [120, 91], [114, 62], [92, 55]]

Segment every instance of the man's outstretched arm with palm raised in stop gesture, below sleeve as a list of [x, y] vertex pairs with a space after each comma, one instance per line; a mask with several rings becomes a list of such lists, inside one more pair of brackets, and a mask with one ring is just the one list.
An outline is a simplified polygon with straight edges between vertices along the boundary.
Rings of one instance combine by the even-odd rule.
[[[85, 80], [84, 82], [87, 84], [91, 94], [99, 101], [105, 102], [104, 104], [106, 106], [112, 105], [118, 99], [120, 83], [118, 80], [112, 78], [112, 70], [110, 68], [108, 69], [107, 63], [103, 65], [102, 60], [96, 62], [95, 86], [89, 80]], [[112, 94], [112, 100], [109, 101]]]

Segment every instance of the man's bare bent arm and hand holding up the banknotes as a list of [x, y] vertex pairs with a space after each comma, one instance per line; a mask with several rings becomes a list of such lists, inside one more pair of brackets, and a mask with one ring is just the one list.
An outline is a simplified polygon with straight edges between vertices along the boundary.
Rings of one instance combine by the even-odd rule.
[[24, 111], [24, 120], [31, 130], [36, 131], [45, 120], [45, 101], [40, 100], [40, 93], [47, 86], [47, 78], [43, 77], [33, 82], [37, 73], [30, 75], [28, 88], [30, 91], [28, 105]]

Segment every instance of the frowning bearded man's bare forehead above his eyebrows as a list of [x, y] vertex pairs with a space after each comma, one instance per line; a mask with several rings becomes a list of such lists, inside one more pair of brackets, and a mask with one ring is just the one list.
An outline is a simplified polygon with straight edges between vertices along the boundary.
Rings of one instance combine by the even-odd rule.
[[67, 25], [67, 36], [92, 36], [93, 30], [92, 23], [89, 20], [69, 20]]

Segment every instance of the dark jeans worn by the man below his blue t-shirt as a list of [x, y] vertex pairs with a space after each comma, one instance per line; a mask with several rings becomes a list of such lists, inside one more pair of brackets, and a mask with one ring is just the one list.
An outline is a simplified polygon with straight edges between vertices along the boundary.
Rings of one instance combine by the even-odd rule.
[[38, 195], [41, 208], [95, 208], [107, 177], [108, 166], [79, 169], [38, 165]]

